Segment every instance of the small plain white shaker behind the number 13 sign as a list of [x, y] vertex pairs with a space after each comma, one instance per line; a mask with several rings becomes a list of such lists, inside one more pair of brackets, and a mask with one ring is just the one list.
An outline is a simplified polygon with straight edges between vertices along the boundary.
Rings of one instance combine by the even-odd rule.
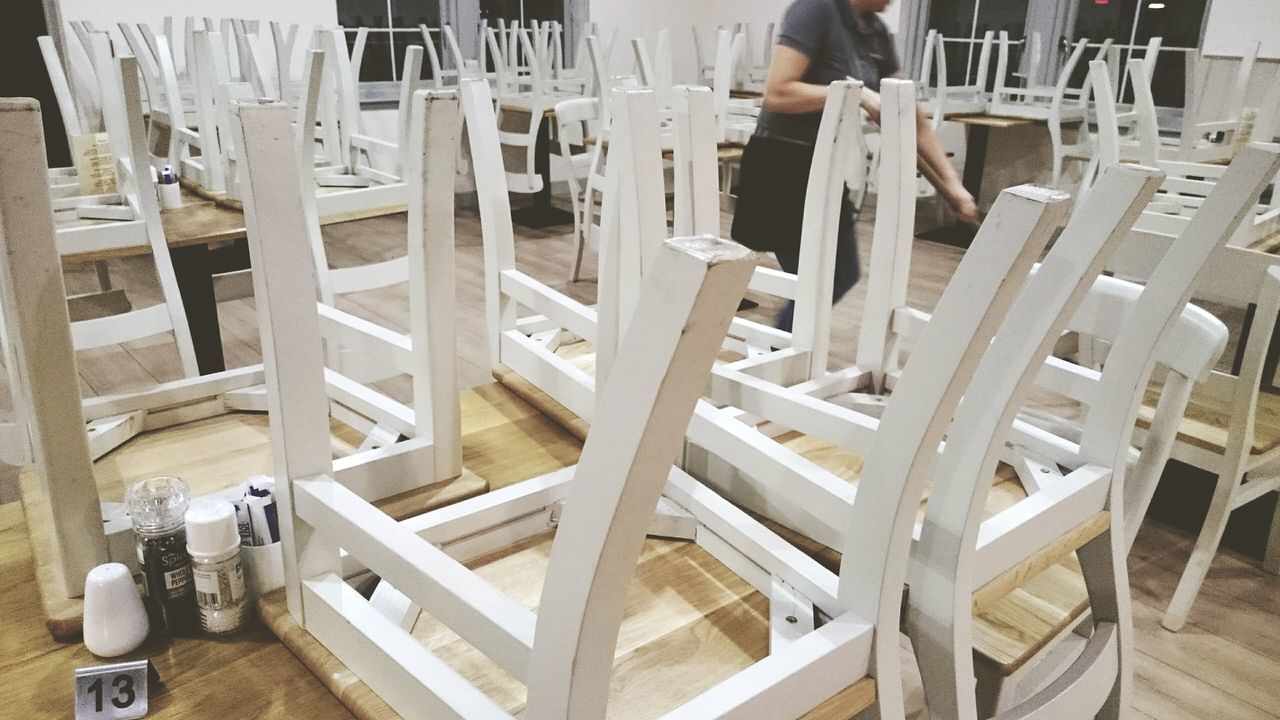
[[99, 657], [116, 657], [147, 639], [151, 623], [138, 585], [119, 562], [99, 565], [84, 577], [84, 647]]

